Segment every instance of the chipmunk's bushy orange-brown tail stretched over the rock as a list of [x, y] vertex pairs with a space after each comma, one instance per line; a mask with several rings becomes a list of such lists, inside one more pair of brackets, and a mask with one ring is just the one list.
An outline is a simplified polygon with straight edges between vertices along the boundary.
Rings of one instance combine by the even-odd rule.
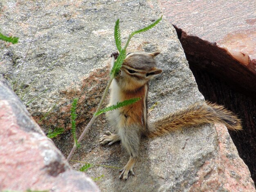
[[240, 119], [225, 107], [210, 102], [195, 103], [187, 109], [168, 114], [153, 122], [148, 122], [146, 136], [153, 138], [183, 127], [206, 123], [224, 123], [230, 130], [241, 130]]

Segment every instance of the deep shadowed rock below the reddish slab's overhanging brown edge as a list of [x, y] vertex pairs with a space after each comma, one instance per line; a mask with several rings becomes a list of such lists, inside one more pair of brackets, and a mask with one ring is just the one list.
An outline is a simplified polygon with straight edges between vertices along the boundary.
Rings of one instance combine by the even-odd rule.
[[229, 84], [211, 75], [205, 70], [191, 67], [204, 98], [225, 105], [242, 120], [243, 131], [229, 132], [240, 157], [248, 166], [252, 179], [256, 181], [256, 100], [236, 92]]

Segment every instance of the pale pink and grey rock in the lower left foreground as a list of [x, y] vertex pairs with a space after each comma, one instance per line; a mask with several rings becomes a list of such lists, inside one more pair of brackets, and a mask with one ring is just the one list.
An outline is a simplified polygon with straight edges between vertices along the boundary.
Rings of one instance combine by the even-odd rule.
[[99, 191], [85, 174], [70, 169], [0, 76], [0, 191], [27, 189]]

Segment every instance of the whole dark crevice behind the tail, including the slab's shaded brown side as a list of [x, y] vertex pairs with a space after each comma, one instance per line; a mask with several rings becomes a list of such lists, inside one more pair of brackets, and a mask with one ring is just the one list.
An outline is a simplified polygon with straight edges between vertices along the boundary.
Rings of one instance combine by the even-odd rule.
[[[175, 29], [179, 39], [182, 38], [182, 30], [177, 29], [177, 27]], [[223, 77], [220, 67], [225, 64], [218, 63], [218, 58], [216, 60], [214, 58], [209, 59], [207, 56], [204, 57], [205, 53], [199, 53], [198, 55], [198, 50], [194, 50], [193, 55], [188, 54], [186, 50], [193, 50], [193, 45], [188, 47], [190, 46], [188, 36], [186, 36], [186, 40], [184, 41], [186, 42], [185, 44], [182, 43], [182, 40], [181, 43], [186, 58], [189, 61], [189, 67], [195, 76], [198, 89], [204, 98], [213, 103], [224, 105], [227, 109], [238, 114], [242, 120], [243, 131], [229, 131], [229, 134], [236, 145], [240, 157], [248, 166], [252, 179], [256, 183], [256, 98], [255, 94], [252, 94], [255, 90], [248, 91], [247, 89], [243, 89], [243, 87], [237, 84], [237, 79], [233, 79], [232, 81], [232, 78]], [[191, 44], [193, 44], [193, 39], [191, 40]], [[209, 43], [207, 46], [209, 46]], [[214, 53], [211, 54], [214, 55]], [[215, 69], [215, 66], [212, 64], [216, 64], [218, 69]], [[232, 63], [227, 65], [232, 65]], [[226, 70], [224, 71], [225, 73], [229, 73], [232, 76], [232, 69], [227, 70], [225, 66], [223, 69]]]

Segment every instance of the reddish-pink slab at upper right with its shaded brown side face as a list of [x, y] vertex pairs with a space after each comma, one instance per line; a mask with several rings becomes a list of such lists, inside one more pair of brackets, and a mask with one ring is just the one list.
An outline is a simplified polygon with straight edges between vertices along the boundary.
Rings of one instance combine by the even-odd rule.
[[188, 60], [215, 71], [219, 78], [255, 98], [255, 1], [161, 3], [168, 20], [180, 31]]

